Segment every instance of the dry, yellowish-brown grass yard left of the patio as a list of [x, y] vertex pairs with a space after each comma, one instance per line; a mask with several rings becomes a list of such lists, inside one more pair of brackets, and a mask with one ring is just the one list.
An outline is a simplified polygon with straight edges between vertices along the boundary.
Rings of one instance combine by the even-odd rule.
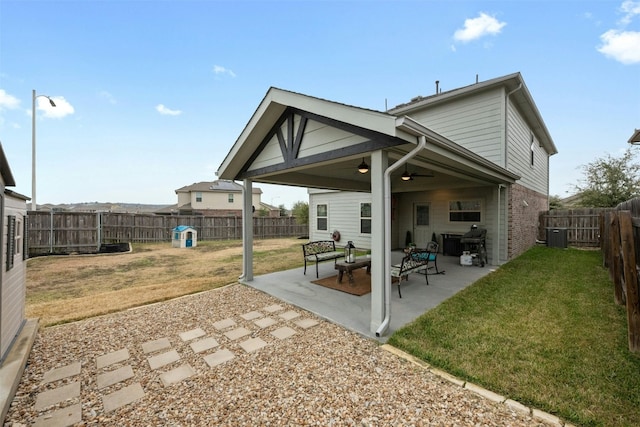
[[[302, 265], [300, 240], [254, 242], [254, 273]], [[26, 314], [42, 327], [165, 301], [237, 282], [242, 241], [134, 244], [131, 253], [38, 257], [27, 264]]]

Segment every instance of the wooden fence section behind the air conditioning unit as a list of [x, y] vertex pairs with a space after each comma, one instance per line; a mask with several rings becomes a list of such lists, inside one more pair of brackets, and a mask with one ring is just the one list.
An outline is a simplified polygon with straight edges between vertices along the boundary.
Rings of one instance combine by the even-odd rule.
[[600, 246], [600, 215], [610, 209], [553, 209], [541, 212], [538, 220], [538, 239], [547, 240], [547, 230], [566, 228], [570, 246]]

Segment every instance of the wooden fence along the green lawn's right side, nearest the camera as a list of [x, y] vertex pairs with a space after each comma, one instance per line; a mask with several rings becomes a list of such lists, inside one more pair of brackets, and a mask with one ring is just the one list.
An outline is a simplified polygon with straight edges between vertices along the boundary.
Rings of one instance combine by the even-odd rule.
[[626, 305], [629, 350], [640, 353], [640, 198], [602, 214], [602, 254], [616, 304]]

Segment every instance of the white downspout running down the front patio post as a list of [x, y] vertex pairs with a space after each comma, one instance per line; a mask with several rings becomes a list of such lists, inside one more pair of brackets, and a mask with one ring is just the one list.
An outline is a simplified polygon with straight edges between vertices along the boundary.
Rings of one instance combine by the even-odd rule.
[[384, 171], [384, 319], [376, 329], [376, 337], [381, 336], [391, 322], [391, 263], [387, 262], [387, 256], [391, 254], [391, 172], [415, 157], [426, 145], [427, 137], [421, 135], [418, 145], [413, 150]]

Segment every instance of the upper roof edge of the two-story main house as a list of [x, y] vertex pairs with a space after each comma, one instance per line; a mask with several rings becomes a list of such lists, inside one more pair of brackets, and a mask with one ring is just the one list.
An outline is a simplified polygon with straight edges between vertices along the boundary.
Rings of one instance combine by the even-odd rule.
[[426, 106], [434, 106], [444, 102], [449, 102], [462, 97], [477, 94], [482, 91], [494, 89], [496, 87], [504, 87], [513, 103], [522, 112], [525, 119], [528, 121], [529, 126], [535, 132], [538, 140], [542, 146], [545, 147], [549, 155], [557, 154], [556, 148], [551, 134], [547, 129], [542, 115], [538, 110], [533, 97], [527, 89], [527, 85], [524, 83], [524, 79], [520, 73], [513, 73], [503, 77], [490, 79], [482, 82], [476, 82], [474, 84], [456, 88], [446, 92], [440, 92], [429, 96], [418, 96], [413, 98], [410, 102], [400, 104], [388, 112], [395, 115], [410, 114], [412, 111], [422, 109]]

